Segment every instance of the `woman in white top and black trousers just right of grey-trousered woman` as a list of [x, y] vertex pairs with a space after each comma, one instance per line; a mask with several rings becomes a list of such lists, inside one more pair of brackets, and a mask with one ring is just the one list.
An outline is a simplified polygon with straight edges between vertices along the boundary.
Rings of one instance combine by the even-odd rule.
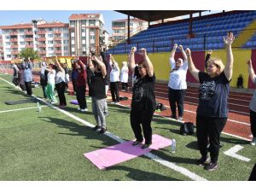
[[116, 61], [113, 59], [113, 55], [109, 55], [109, 64], [111, 67], [110, 72], [110, 90], [111, 90], [111, 96], [112, 101], [114, 103], [119, 103], [119, 65]]

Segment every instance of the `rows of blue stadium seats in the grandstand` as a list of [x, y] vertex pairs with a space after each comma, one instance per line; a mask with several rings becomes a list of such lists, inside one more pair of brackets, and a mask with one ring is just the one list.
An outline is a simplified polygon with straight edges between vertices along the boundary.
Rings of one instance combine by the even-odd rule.
[[[232, 31], [236, 37], [245, 30], [253, 20], [256, 20], [256, 11], [245, 11], [228, 15], [201, 17], [193, 20], [192, 31], [195, 38], [188, 38], [189, 20], [180, 20], [158, 26], [151, 26], [148, 30], [131, 37], [131, 44], [125, 42], [117, 44], [108, 54], [126, 54], [131, 47], [146, 48], [148, 53], [170, 51], [172, 44], [183, 44], [192, 50], [223, 49], [223, 36]], [[254, 30], [256, 31], [256, 30]], [[242, 48], [256, 47], [256, 34], [253, 35]]]

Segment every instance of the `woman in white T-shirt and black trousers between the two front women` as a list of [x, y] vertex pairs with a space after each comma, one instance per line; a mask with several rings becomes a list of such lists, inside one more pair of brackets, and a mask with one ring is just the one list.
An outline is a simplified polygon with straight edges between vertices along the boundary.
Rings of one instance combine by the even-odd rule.
[[[172, 119], [183, 120], [184, 111], [184, 96], [185, 90], [187, 89], [186, 76], [188, 71], [188, 60], [183, 46], [179, 45], [178, 49], [181, 50], [183, 54], [183, 59], [178, 58], [177, 61], [174, 60], [174, 55], [176, 53], [177, 44], [173, 45], [173, 49], [170, 56], [170, 65], [172, 71], [170, 72], [170, 79], [168, 83], [168, 98], [170, 102], [170, 108], [172, 110]], [[184, 60], [184, 61], [183, 61]], [[176, 108], [178, 112], [178, 118], [176, 115]]]

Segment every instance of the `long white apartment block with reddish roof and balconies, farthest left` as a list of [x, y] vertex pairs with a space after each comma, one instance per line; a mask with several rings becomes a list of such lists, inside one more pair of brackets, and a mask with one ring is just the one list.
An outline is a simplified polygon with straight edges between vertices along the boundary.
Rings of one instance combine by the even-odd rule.
[[[70, 55], [67, 23], [32, 20], [13, 26], [0, 26], [3, 39], [3, 59], [10, 61], [18, 57], [25, 48], [38, 50], [38, 55]], [[1, 48], [0, 48], [1, 49]]]

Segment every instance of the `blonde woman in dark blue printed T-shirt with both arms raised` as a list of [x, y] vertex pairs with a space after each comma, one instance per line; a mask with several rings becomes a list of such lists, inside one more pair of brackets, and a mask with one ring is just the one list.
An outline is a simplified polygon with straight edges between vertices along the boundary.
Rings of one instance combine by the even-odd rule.
[[[227, 63], [218, 58], [207, 61], [207, 73], [200, 72], [194, 65], [190, 49], [186, 49], [189, 71], [200, 82], [199, 105], [196, 111], [196, 137], [201, 153], [199, 166], [208, 171], [217, 169], [219, 137], [228, 118], [228, 96], [233, 73], [233, 54], [231, 44], [235, 37], [229, 32], [224, 38]], [[209, 140], [209, 141], [208, 141]], [[211, 163], [207, 164], [207, 144], [210, 143]]]

